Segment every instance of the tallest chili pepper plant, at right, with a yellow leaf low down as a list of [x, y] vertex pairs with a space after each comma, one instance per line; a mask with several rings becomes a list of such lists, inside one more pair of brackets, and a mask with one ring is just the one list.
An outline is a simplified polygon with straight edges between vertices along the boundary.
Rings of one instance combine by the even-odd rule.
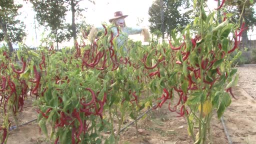
[[[217, 16], [218, 11], [211, 11], [207, 15], [203, 7], [204, 0], [198, 2], [200, 14], [195, 17], [193, 24], [188, 24], [179, 34], [176, 29], [172, 30], [168, 49], [176, 51], [174, 67], [169, 69], [168, 66], [160, 66], [164, 68], [159, 76], [164, 80], [151, 81], [150, 88], [159, 94], [153, 85], [161, 83], [159, 87], [163, 93], [153, 108], [161, 107], [167, 99], [177, 95], [179, 100], [174, 106], [172, 100], [168, 101], [169, 110], [175, 111], [177, 117], [186, 117], [187, 131], [194, 143], [206, 143], [211, 142], [210, 121], [213, 111], [216, 110], [220, 118], [230, 105], [231, 97], [236, 99], [232, 87], [236, 85], [238, 75], [232, 63], [241, 52], [237, 52], [233, 58], [230, 58], [230, 53], [238, 49], [245, 27], [244, 23], [240, 26], [232, 23], [230, 14]], [[229, 34], [232, 34], [231, 39]]]

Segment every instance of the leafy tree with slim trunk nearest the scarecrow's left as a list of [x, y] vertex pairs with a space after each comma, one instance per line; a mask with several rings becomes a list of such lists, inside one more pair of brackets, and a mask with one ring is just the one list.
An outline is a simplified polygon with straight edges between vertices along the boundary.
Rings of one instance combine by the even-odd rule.
[[[72, 36], [76, 40], [77, 25], [75, 16], [79, 15], [84, 9], [80, 8], [78, 3], [82, 0], [29, 0], [33, 4], [36, 18], [41, 25], [47, 25], [51, 33], [55, 34], [56, 42], [61, 42], [66, 38], [69, 40]], [[91, 0], [89, 0], [91, 1]], [[93, 2], [93, 1], [91, 1]], [[66, 12], [71, 10], [71, 25], [65, 23]], [[80, 25], [80, 24], [78, 24]], [[59, 34], [60, 31], [62, 34]], [[64, 33], [63, 33], [64, 32]], [[71, 34], [70, 34], [71, 33]]]

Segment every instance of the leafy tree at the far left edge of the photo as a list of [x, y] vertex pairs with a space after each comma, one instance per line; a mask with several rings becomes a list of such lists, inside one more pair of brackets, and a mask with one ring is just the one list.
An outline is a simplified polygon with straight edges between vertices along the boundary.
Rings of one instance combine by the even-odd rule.
[[21, 42], [26, 35], [24, 24], [16, 19], [21, 4], [14, 4], [14, 0], [0, 0], [0, 41], [7, 42], [9, 51], [13, 50], [11, 42]]

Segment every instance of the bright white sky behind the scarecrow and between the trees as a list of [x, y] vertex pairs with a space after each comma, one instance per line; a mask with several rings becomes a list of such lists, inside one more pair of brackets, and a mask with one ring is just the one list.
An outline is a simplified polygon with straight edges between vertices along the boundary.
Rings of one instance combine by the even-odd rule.
[[[36, 20], [34, 21], [35, 12], [32, 9], [32, 5], [28, 2], [25, 3], [23, 0], [16, 0], [23, 4], [20, 9], [22, 13], [21, 19], [24, 19], [26, 25], [27, 36], [24, 43], [30, 47], [39, 45], [41, 33], [43, 33], [43, 27], [39, 27]], [[108, 22], [108, 19], [113, 17], [115, 11], [122, 11], [124, 15], [128, 15], [125, 18], [127, 26], [136, 26], [138, 23], [137, 19], [142, 19], [142, 23], [139, 26], [148, 27], [148, 8], [151, 6], [154, 0], [94, 0], [95, 4], [88, 0], [82, 0], [79, 2], [81, 7], [88, 7], [83, 15], [86, 17], [85, 21], [88, 24], [94, 26], [101, 25], [102, 22]], [[215, 0], [208, 0], [207, 5], [213, 9], [217, 7]], [[71, 23], [71, 12], [67, 13], [66, 22]], [[35, 28], [36, 27], [36, 28]], [[134, 37], [133, 37], [134, 39]], [[72, 43], [72, 42], [71, 42]], [[67, 44], [67, 43], [64, 43]]]

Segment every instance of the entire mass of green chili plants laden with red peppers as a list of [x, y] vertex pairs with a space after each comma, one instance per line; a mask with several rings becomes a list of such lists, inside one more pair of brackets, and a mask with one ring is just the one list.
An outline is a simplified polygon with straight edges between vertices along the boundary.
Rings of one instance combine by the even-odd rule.
[[60, 51], [43, 45], [32, 51], [20, 44], [10, 57], [1, 48], [2, 143], [14, 123], [9, 115], [22, 110], [28, 92], [37, 99], [40, 129], [53, 143], [118, 143], [127, 117], [136, 123], [141, 111], [164, 103], [186, 117], [194, 143], [210, 142], [213, 111], [220, 118], [235, 98], [238, 76], [232, 63], [241, 54], [237, 49], [245, 27], [232, 23], [231, 14], [206, 14], [204, 0], [194, 1], [200, 2], [199, 16], [180, 33], [173, 29], [167, 43], [129, 41], [117, 47], [120, 27], [103, 23], [94, 42], [85, 43], [83, 33], [73, 47]]

